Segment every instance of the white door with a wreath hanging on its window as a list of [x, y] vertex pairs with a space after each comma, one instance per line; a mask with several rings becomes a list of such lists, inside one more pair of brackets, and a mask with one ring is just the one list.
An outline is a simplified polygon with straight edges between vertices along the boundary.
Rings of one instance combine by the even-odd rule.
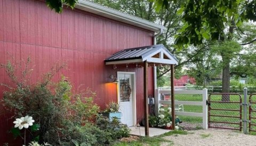
[[134, 118], [134, 74], [118, 73], [119, 105], [122, 112], [121, 122], [127, 126], [133, 126]]

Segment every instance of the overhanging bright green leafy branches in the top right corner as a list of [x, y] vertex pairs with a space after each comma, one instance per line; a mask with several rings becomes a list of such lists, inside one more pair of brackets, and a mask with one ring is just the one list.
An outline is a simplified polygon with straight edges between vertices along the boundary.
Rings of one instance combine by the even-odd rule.
[[[175, 0], [154, 1], [156, 9], [167, 8]], [[217, 0], [217, 1], [183, 1], [178, 14], [182, 15], [183, 27], [176, 36], [175, 44], [202, 44], [203, 40], [219, 40], [225, 36], [226, 24], [238, 27], [246, 20], [255, 19], [255, 1]]]

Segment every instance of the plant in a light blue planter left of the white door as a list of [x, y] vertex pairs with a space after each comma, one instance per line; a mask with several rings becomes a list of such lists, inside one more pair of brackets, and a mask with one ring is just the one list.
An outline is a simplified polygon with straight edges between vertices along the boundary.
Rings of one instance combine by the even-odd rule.
[[110, 121], [113, 120], [114, 117], [116, 117], [118, 120], [121, 119], [122, 113], [119, 112], [120, 106], [116, 102], [109, 102], [107, 105], [107, 108], [102, 112], [102, 115], [109, 118]]

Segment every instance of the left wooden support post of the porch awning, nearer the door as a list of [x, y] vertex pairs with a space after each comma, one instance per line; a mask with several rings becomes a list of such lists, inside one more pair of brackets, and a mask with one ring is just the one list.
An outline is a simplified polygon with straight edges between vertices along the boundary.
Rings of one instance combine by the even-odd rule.
[[145, 117], [145, 135], [149, 136], [148, 123], [148, 62], [144, 62], [144, 117]]

